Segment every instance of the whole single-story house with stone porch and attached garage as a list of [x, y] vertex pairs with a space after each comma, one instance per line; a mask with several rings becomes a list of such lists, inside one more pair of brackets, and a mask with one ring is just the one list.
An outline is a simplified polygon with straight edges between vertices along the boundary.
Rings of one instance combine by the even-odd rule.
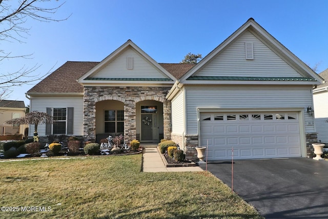
[[[172, 139], [209, 160], [305, 157], [316, 139], [313, 86], [323, 79], [250, 18], [198, 64], [159, 64], [132, 41], [103, 61], [67, 62], [27, 92], [53, 115], [39, 135]], [[33, 127], [30, 127], [30, 135]]]

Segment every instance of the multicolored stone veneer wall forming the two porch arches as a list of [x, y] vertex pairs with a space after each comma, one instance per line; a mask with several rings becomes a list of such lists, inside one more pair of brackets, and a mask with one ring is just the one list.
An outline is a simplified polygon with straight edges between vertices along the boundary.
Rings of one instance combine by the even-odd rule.
[[96, 103], [115, 100], [124, 103], [124, 140], [136, 139], [136, 103], [152, 100], [163, 103], [164, 138], [171, 139], [171, 102], [165, 96], [171, 87], [84, 87], [83, 135], [95, 139]]

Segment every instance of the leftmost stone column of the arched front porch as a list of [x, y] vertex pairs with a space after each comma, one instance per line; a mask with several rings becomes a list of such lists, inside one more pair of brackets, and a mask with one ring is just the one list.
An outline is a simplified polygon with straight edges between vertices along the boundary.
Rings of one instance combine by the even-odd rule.
[[85, 140], [96, 140], [96, 104], [94, 98], [85, 91], [83, 103], [83, 137]]

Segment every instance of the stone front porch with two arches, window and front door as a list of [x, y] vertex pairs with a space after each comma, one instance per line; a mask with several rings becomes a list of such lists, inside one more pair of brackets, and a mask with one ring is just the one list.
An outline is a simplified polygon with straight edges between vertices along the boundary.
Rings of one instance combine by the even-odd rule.
[[[159, 143], [171, 136], [170, 87], [85, 87], [84, 138], [124, 135], [124, 141]], [[111, 95], [115, 93], [115, 95]]]

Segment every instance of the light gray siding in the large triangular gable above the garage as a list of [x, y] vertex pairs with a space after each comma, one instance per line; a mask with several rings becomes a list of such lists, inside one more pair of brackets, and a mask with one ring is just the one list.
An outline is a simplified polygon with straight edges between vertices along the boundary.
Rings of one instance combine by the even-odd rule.
[[[253, 43], [254, 59], [245, 58], [245, 42]], [[263, 44], [250, 31], [243, 33], [234, 43], [220, 52], [195, 75], [198, 76], [300, 76], [274, 51]]]

